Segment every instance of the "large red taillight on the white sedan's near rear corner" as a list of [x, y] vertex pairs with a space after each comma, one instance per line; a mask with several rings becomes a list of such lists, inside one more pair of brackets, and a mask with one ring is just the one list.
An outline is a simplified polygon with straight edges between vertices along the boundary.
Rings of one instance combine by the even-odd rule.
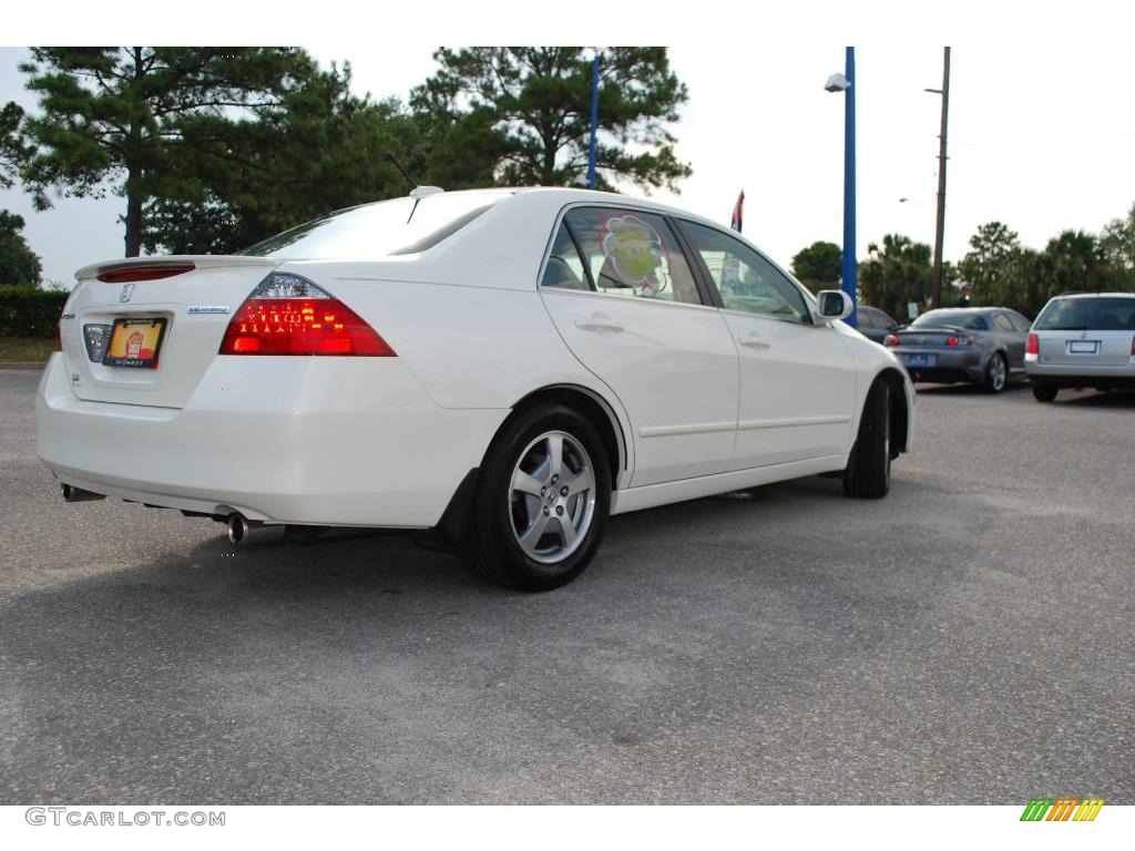
[[276, 272], [236, 311], [220, 354], [395, 356], [386, 340], [338, 298], [296, 275]]

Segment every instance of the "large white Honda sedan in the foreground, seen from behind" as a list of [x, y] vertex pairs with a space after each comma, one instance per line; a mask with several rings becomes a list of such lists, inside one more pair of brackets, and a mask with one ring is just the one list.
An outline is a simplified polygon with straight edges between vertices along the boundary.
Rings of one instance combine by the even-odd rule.
[[882, 497], [915, 394], [738, 234], [580, 189], [345, 210], [232, 256], [81, 269], [36, 398], [72, 502], [427, 530], [479, 576], [574, 579], [612, 514], [818, 473]]

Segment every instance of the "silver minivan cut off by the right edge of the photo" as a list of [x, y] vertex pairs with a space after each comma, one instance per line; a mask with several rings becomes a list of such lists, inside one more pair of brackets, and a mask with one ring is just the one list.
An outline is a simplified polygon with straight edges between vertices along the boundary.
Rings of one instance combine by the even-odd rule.
[[1025, 369], [1039, 402], [1062, 387], [1135, 389], [1135, 293], [1061, 295], [1036, 317]]

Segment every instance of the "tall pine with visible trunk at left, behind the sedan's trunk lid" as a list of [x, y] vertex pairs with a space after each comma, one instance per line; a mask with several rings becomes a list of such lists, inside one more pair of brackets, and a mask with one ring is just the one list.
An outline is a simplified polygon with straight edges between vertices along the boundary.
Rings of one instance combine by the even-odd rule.
[[41, 115], [25, 118], [20, 175], [39, 209], [48, 191], [126, 199], [126, 255], [142, 247], [143, 210], [176, 197], [183, 130], [277, 104], [312, 60], [291, 48], [34, 48], [20, 66]]

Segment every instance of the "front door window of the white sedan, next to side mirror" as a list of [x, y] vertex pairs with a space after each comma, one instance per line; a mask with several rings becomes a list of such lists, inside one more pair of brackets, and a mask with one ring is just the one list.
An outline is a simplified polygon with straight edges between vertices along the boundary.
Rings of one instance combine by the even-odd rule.
[[725, 307], [787, 322], [812, 322], [807, 302], [796, 285], [748, 245], [691, 221], [683, 221], [682, 230], [701, 255]]

